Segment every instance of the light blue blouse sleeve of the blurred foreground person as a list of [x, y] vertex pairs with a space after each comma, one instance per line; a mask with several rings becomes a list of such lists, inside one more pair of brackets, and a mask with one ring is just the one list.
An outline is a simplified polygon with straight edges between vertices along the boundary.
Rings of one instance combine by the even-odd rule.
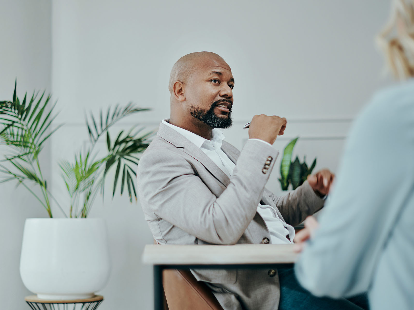
[[316, 296], [367, 291], [412, 191], [412, 112], [398, 115], [390, 105], [369, 107], [354, 124], [319, 228], [295, 266], [301, 285]]

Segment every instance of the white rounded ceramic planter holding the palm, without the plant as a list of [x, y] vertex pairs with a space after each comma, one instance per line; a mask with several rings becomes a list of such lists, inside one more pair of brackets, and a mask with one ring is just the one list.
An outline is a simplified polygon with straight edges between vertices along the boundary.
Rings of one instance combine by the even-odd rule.
[[90, 298], [106, 285], [110, 269], [103, 219], [26, 219], [20, 276], [39, 298]]

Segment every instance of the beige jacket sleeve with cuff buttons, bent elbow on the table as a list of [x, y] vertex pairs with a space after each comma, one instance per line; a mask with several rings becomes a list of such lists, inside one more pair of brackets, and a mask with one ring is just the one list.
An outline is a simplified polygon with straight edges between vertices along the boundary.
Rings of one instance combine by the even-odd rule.
[[[144, 153], [138, 194], [146, 212], [215, 244], [234, 244], [253, 219], [278, 155], [260, 141], [247, 141], [230, 184], [216, 197], [181, 154], [158, 148]], [[262, 169], [272, 157], [267, 173]]]

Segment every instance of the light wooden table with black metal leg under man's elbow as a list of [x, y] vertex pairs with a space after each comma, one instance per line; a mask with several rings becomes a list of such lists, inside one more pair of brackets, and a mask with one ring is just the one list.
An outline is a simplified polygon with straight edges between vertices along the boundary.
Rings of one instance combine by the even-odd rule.
[[142, 262], [154, 266], [154, 309], [163, 309], [163, 269], [262, 269], [291, 266], [297, 253], [293, 244], [146, 245]]

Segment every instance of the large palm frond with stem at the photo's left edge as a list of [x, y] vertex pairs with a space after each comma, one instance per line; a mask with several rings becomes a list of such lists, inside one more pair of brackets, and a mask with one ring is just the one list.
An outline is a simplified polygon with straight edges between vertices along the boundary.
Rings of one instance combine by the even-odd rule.
[[[17, 97], [17, 80], [14, 83], [13, 100], [0, 102], [0, 144], [6, 145], [9, 154], [1, 162], [8, 162], [13, 170], [6, 169], [9, 175], [25, 186], [34, 196], [33, 191], [24, 184], [24, 181], [34, 181], [39, 184], [43, 199], [36, 198], [46, 208], [52, 217], [51, 207], [48, 198], [47, 182], [43, 179], [41, 167], [38, 160], [43, 143], [60, 126], [49, 133], [50, 126], [55, 119], [53, 106], [49, 106], [51, 95], [43, 100], [45, 92], [36, 101], [39, 93], [33, 92], [30, 100], [27, 93], [22, 101]], [[36, 166], [36, 168], [35, 168]]]

